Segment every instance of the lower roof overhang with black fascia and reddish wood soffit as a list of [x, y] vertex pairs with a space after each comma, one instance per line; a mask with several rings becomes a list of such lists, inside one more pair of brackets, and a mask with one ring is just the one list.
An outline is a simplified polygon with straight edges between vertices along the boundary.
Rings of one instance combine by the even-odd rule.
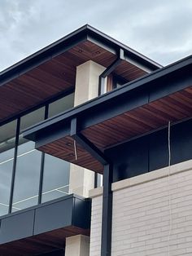
[[120, 89], [47, 119], [24, 131], [36, 148], [55, 157], [102, 173], [101, 162], [72, 138], [78, 132], [101, 152], [128, 139], [192, 116], [192, 56], [161, 68]]

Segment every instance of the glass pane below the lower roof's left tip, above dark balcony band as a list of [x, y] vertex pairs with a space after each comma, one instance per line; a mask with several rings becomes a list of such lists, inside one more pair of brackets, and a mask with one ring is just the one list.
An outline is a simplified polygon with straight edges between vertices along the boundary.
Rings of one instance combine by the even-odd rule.
[[41, 152], [29, 141], [18, 148], [12, 211], [37, 205]]

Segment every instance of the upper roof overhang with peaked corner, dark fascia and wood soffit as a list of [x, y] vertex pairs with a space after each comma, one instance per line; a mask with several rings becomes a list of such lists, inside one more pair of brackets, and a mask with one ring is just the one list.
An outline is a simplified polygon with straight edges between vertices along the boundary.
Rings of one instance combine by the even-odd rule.
[[74, 90], [76, 66], [93, 60], [110, 66], [122, 49], [114, 73], [127, 81], [161, 66], [89, 25], [0, 73], [0, 123]]

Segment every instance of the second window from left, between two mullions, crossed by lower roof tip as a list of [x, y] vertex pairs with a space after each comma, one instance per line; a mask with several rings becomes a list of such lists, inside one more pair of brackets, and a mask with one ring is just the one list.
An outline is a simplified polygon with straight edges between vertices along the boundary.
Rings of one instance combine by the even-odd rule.
[[[40, 108], [20, 120], [20, 131], [44, 120], [45, 108]], [[41, 152], [35, 143], [20, 135], [17, 152], [12, 211], [21, 210], [38, 202]]]

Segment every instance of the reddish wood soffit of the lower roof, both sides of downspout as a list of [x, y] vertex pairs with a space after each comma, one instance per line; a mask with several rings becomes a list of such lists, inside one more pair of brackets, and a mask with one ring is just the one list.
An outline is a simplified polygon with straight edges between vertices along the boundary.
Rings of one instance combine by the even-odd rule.
[[[168, 126], [168, 121], [180, 121], [187, 117], [192, 117], [192, 86], [90, 126], [83, 130], [82, 134], [104, 151], [116, 143], [123, 143], [137, 135]], [[78, 144], [76, 159], [73, 139], [69, 136], [38, 149], [78, 166], [103, 173], [103, 166]]]

